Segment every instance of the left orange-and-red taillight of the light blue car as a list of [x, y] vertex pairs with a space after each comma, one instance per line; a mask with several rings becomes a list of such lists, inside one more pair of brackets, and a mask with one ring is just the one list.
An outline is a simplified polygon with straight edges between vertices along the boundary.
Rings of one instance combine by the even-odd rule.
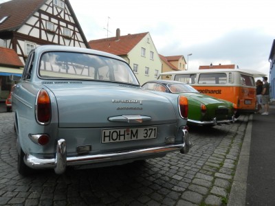
[[51, 101], [45, 89], [36, 96], [36, 120], [39, 124], [49, 124], [51, 120]]

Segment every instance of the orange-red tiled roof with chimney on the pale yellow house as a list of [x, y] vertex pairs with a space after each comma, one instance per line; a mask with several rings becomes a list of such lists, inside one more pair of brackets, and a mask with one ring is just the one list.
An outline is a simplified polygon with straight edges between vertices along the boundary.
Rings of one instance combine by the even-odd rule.
[[115, 55], [126, 55], [131, 52], [133, 47], [139, 43], [148, 32], [140, 34], [128, 34], [125, 36], [115, 36], [89, 41], [91, 49], [109, 52]]

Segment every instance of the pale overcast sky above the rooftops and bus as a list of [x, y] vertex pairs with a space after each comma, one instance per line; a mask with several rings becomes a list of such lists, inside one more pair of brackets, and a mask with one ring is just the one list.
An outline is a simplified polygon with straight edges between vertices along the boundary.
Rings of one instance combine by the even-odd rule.
[[87, 41], [149, 32], [159, 54], [268, 74], [274, 0], [69, 0]]

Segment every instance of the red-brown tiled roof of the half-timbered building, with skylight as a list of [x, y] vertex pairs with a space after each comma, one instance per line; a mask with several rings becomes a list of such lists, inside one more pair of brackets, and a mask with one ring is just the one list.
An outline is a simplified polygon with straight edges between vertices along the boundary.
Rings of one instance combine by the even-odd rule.
[[0, 20], [4, 16], [8, 19], [0, 24], [0, 31], [17, 30], [27, 21], [45, 0], [12, 0], [0, 4]]

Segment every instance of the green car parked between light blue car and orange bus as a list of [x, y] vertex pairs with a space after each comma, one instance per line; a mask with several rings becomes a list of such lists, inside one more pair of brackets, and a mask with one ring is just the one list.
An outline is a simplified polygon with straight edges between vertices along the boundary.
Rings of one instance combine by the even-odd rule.
[[143, 89], [184, 95], [188, 99], [188, 124], [215, 126], [234, 122], [236, 105], [209, 95], [203, 95], [188, 84], [172, 80], [153, 80]]

